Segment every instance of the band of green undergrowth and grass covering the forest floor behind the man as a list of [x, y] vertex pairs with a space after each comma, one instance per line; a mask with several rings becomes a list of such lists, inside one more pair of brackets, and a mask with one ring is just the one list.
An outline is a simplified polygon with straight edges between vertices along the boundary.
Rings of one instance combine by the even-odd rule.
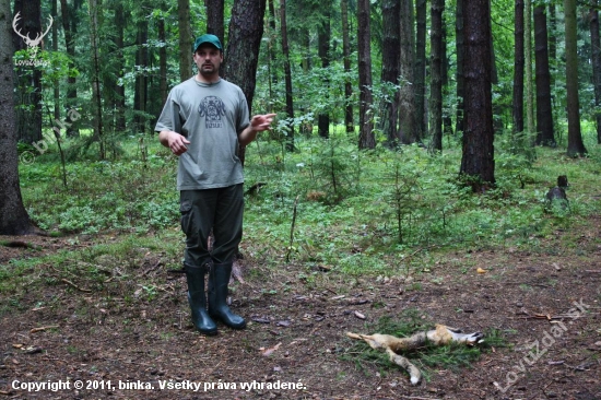
[[[328, 141], [298, 136], [294, 153], [266, 138], [246, 152], [247, 187], [268, 185], [247, 196], [243, 249], [272, 264], [281, 263], [292, 245], [291, 261], [307, 268], [409, 275], [427, 269], [440, 249], [514, 246], [546, 251], [544, 239], [553, 232], [586, 223], [601, 210], [601, 151], [592, 137], [586, 138], [589, 157], [569, 158], [565, 150], [537, 148], [532, 158], [520, 155], [509, 136], [497, 136], [497, 187], [484, 195], [458, 185], [458, 138], [446, 139], [447, 149], [437, 156], [419, 146], [360, 152], [356, 138], [338, 127]], [[86, 160], [68, 163], [67, 188], [51, 145], [32, 165], [22, 165], [23, 198], [32, 219], [75, 240], [81, 234], [110, 233], [133, 235], [135, 242], [152, 234], [165, 237], [163, 247], [180, 249], [176, 157], [155, 137], [144, 139], [148, 156], [139, 143], [139, 137], [122, 138], [120, 155], [110, 161], [94, 160], [93, 144]], [[68, 151], [78, 145], [64, 143]], [[545, 192], [558, 175], [570, 181], [569, 212], [544, 212]]]

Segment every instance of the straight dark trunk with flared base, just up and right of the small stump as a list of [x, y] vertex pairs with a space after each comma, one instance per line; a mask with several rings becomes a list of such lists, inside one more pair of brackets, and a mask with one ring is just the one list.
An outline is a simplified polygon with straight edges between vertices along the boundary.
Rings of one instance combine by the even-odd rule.
[[566, 92], [567, 92], [567, 154], [585, 155], [587, 150], [580, 131], [580, 101], [578, 97], [578, 32], [576, 0], [564, 0], [566, 27]]

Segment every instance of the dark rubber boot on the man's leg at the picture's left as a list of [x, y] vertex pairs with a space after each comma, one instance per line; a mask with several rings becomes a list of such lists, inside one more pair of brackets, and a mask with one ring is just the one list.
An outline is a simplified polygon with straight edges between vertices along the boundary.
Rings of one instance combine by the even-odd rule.
[[188, 279], [188, 303], [192, 313], [192, 323], [202, 334], [217, 333], [217, 326], [207, 313], [207, 294], [204, 292], [204, 274], [207, 268], [184, 264]]

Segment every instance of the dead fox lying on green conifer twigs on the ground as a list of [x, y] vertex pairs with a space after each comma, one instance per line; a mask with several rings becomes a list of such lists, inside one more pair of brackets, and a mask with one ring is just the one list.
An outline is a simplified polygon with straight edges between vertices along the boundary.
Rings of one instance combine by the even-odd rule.
[[409, 338], [397, 338], [391, 334], [361, 334], [346, 332], [351, 339], [364, 340], [372, 349], [386, 351], [391, 362], [406, 370], [410, 376], [411, 385], [417, 385], [422, 379], [422, 373], [406, 357], [403, 357], [402, 352], [415, 350], [425, 346], [427, 343], [435, 345], [445, 345], [450, 342], [466, 343], [473, 345], [481, 343], [484, 337], [482, 332], [461, 333], [461, 330], [449, 328], [444, 325], [436, 325], [436, 329], [427, 332], [417, 332]]

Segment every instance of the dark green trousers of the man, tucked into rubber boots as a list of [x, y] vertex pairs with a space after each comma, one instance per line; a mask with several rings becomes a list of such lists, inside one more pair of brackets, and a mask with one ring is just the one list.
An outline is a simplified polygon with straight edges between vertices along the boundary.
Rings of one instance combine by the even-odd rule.
[[[181, 230], [186, 234], [185, 262], [202, 267], [234, 260], [243, 237], [243, 184], [179, 192]], [[215, 242], [209, 250], [209, 235]]]

